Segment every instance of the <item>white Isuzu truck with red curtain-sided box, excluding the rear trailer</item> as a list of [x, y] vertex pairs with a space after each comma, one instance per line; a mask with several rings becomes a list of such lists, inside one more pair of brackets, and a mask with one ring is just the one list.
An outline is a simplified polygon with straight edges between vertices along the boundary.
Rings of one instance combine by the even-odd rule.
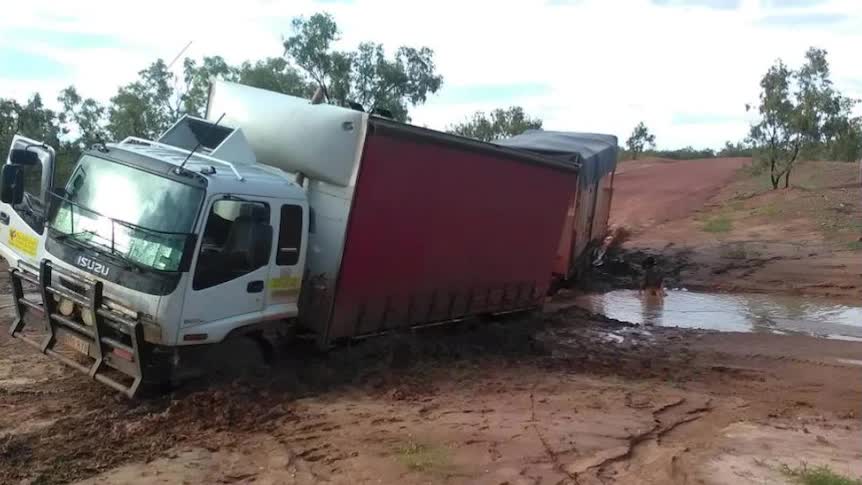
[[298, 323], [325, 346], [536, 307], [577, 182], [572, 164], [226, 82], [206, 119], [88, 150], [65, 188], [53, 173], [50, 147], [16, 137], [11, 334], [129, 396], [237, 335]]

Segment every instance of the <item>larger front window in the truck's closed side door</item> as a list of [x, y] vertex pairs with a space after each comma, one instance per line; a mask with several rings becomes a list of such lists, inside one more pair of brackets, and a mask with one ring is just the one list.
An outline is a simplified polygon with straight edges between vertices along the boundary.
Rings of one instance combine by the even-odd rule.
[[267, 204], [216, 201], [207, 217], [192, 288], [202, 290], [251, 273], [269, 262], [271, 249]]

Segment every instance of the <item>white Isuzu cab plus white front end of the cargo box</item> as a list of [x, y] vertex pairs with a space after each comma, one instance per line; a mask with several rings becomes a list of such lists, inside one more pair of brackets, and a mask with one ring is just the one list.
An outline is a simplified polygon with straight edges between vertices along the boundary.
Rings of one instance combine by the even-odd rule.
[[[86, 151], [60, 190], [53, 150], [16, 137], [0, 190], [13, 336], [132, 396], [185, 347], [297, 316], [306, 259], [321, 273], [341, 256], [368, 115], [230, 83], [211, 88], [208, 111], [224, 123], [184, 117], [158, 141]], [[298, 131], [278, 122], [310, 112]], [[248, 125], [257, 143], [230, 127]], [[27, 283], [41, 302], [24, 298]], [[44, 340], [24, 331], [28, 312], [44, 320]]]

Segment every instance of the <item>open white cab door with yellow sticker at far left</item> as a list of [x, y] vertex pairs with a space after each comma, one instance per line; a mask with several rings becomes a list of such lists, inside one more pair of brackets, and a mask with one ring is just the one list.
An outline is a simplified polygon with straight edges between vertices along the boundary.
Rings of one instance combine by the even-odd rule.
[[38, 266], [53, 180], [54, 149], [15, 135], [2, 167], [0, 188], [0, 255], [10, 266], [18, 261]]

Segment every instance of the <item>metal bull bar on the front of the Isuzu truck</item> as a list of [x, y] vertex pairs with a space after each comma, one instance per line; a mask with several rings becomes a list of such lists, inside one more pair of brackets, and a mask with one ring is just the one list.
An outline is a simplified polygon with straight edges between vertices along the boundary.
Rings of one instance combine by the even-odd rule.
[[[71, 283], [70, 286], [83, 291], [53, 286], [54, 273], [59, 273], [63, 280]], [[16, 318], [9, 328], [12, 337], [21, 339], [43, 354], [60, 360], [130, 398], [135, 396], [144, 379], [149, 356], [143, 324], [139, 319], [129, 318], [105, 307], [100, 281], [63, 271], [52, 266], [48, 260], [42, 260], [38, 270], [20, 262], [18, 268], [10, 268], [9, 274], [16, 312]], [[25, 282], [38, 288], [41, 302], [25, 298]], [[89, 324], [76, 321], [71, 315], [61, 314], [57, 300], [63, 299], [71, 301], [81, 312], [89, 312], [92, 316]], [[31, 319], [28, 322], [25, 317], [29, 315], [41, 318], [44, 323], [47, 334], [39, 336], [41, 339], [31, 332], [25, 333], [27, 323], [35, 321]], [[84, 359], [70, 357], [67, 352], [58, 349], [57, 344], [61, 341], [67, 343], [64, 348], [76, 350], [75, 354]], [[85, 364], [83, 360], [90, 362]], [[130, 383], [123, 383], [111, 375], [116, 373], [128, 377]]]

